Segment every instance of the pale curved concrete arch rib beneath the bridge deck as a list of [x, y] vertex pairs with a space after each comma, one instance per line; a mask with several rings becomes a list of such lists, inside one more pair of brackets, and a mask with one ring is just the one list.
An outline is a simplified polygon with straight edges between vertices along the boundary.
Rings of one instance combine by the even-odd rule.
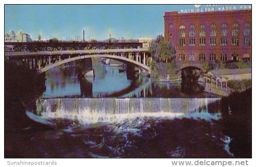
[[145, 64], [142, 64], [138, 61], [134, 61], [132, 59], [128, 59], [128, 58], [123, 57], [123, 56], [115, 56], [115, 55], [108, 55], [108, 54], [95, 54], [95, 55], [83, 55], [83, 56], [78, 55], [78, 56], [75, 56], [75, 57], [72, 57], [72, 58], [66, 58], [64, 60], [52, 63], [51, 65], [42, 67], [40, 69], [40, 71], [41, 72], [46, 72], [46, 71], [50, 70], [51, 68], [54, 68], [56, 66], [60, 66], [62, 64], [65, 64], [65, 63], [68, 63], [68, 62], [71, 62], [71, 61], [93, 58], [93, 57], [102, 57], [102, 58], [108, 58], [108, 59], [117, 60], [117, 61], [121, 61], [121, 62], [125, 62], [125, 63], [131, 63], [131, 64], [134, 64], [135, 66], [138, 66], [138, 67], [142, 68], [143, 70], [146, 70], [149, 73], [151, 72], [151, 69], [150, 69], [149, 66], [146, 66]]

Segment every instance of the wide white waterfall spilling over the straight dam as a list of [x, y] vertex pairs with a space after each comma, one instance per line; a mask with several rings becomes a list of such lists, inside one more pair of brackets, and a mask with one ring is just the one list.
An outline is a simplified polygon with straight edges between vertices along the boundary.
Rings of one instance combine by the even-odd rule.
[[220, 106], [220, 98], [52, 98], [37, 100], [37, 115], [85, 122], [140, 116], [219, 117]]

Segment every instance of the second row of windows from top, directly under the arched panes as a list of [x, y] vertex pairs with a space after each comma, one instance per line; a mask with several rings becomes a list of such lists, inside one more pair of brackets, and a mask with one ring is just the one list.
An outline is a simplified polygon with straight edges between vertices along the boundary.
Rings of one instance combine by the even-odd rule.
[[[244, 36], [249, 36], [251, 34], [251, 29], [243, 29], [243, 35]], [[196, 36], [196, 31], [195, 30], [189, 30], [188, 31], [189, 37], [194, 37]], [[216, 36], [217, 35], [217, 30], [210, 30], [210, 36]], [[221, 36], [228, 36], [228, 30], [227, 29], [222, 29], [220, 30], [220, 35]], [[238, 36], [239, 35], [239, 29], [232, 29], [232, 36]], [[206, 31], [205, 30], [200, 30], [199, 31], [199, 36], [206, 36]], [[179, 37], [186, 37], [186, 31], [185, 30], [180, 30], [179, 31]]]

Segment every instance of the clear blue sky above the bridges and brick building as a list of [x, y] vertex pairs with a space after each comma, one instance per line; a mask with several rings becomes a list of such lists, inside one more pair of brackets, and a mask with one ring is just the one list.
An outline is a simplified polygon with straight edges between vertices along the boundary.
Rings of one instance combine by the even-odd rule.
[[[208, 5], [207, 5], [208, 6]], [[200, 7], [207, 7], [201, 5]], [[36, 40], [105, 40], [155, 38], [164, 34], [165, 11], [194, 5], [5, 5], [5, 33], [18, 30]]]

